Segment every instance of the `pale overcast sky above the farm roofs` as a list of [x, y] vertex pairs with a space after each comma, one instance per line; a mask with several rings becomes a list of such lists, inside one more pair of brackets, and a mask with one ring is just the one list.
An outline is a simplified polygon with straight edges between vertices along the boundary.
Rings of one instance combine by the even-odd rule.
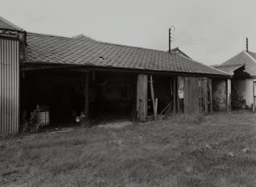
[[179, 47], [193, 60], [220, 64], [256, 53], [255, 0], [0, 0], [0, 16], [25, 31], [154, 50]]

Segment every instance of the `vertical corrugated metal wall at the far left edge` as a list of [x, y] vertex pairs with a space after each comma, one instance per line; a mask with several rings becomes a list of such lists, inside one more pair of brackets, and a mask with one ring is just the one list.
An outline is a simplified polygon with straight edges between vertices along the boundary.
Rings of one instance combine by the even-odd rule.
[[0, 134], [18, 133], [19, 42], [0, 38]]

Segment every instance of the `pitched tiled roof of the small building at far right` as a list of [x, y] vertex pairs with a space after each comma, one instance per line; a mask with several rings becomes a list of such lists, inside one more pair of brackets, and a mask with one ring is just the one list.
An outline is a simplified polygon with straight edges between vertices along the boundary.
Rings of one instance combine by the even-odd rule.
[[235, 68], [235, 66], [245, 64], [245, 72], [249, 73], [251, 76], [256, 76], [255, 57], [256, 53], [242, 51], [241, 53], [238, 53], [238, 55], [232, 57], [230, 60], [227, 60], [225, 63], [219, 65], [217, 68], [224, 70], [225, 66], [233, 66], [233, 68]]

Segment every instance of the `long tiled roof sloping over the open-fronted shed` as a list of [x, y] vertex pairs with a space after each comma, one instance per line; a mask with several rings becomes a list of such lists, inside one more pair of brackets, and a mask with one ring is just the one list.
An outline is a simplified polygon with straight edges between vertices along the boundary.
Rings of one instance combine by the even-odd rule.
[[28, 33], [25, 63], [73, 64], [228, 76], [177, 53], [102, 43], [84, 35], [57, 37]]

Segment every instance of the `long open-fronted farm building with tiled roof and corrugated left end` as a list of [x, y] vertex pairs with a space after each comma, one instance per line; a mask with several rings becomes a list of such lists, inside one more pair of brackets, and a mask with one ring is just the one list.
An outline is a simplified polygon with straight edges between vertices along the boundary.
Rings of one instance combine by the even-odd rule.
[[50, 125], [86, 118], [147, 121], [230, 109], [229, 74], [171, 53], [26, 32], [0, 19], [1, 134], [41, 105]]

